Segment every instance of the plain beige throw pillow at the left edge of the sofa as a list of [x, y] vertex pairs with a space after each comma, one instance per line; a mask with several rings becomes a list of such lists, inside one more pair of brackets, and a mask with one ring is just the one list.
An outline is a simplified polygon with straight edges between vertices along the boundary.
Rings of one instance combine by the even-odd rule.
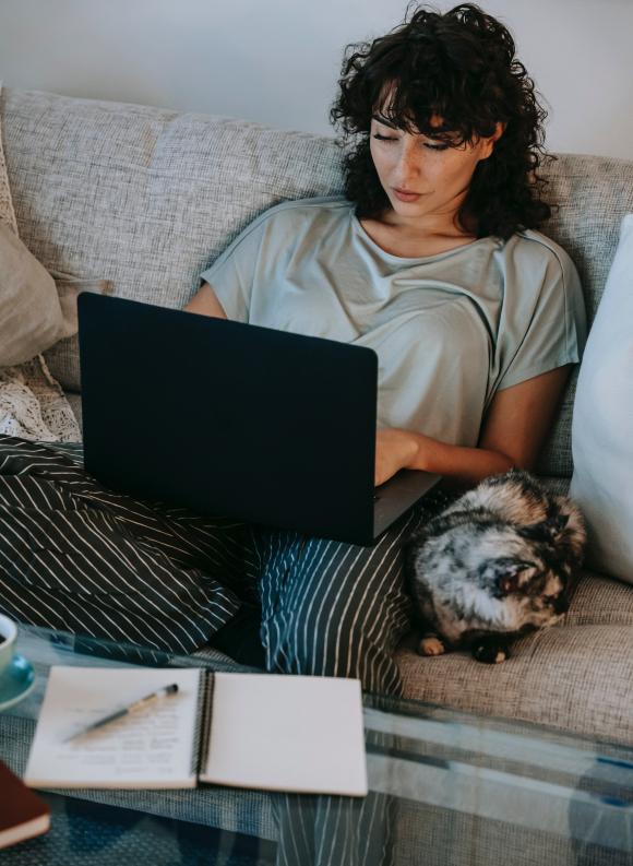
[[76, 322], [64, 319], [52, 276], [0, 223], [0, 367], [29, 360], [74, 332]]

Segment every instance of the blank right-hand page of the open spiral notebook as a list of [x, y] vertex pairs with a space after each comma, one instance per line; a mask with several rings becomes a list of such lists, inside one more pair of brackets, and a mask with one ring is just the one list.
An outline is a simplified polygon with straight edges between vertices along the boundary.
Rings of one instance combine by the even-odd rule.
[[367, 794], [360, 681], [214, 674], [202, 782]]

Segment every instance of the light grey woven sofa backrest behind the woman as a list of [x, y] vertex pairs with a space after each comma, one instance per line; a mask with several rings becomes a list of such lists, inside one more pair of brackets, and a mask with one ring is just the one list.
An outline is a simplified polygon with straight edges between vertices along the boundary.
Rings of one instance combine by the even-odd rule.
[[[334, 140], [226, 117], [4, 88], [7, 167], [21, 237], [51, 271], [107, 280], [115, 295], [182, 307], [198, 276], [259, 213], [342, 191]], [[633, 163], [559, 155], [545, 173], [559, 209], [544, 226], [583, 280], [589, 321], [622, 216]], [[79, 390], [76, 337], [46, 354]], [[538, 472], [571, 476], [577, 369]]]

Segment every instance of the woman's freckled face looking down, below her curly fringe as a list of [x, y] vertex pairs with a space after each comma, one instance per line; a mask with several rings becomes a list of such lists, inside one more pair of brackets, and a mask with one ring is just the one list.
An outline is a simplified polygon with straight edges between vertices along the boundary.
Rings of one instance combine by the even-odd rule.
[[399, 217], [397, 222], [414, 224], [418, 217], [428, 216], [453, 221], [477, 164], [490, 156], [500, 134], [501, 124], [498, 124], [491, 138], [455, 147], [419, 132], [396, 129], [374, 116], [370, 129], [371, 156], [394, 214]]

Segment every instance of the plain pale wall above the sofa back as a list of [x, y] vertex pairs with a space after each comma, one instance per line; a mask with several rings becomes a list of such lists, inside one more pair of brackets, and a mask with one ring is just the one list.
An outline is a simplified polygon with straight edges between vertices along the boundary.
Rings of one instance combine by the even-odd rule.
[[[549, 149], [633, 158], [633, 0], [481, 4], [510, 27], [546, 97]], [[0, 79], [331, 134], [344, 46], [389, 31], [405, 5], [0, 0]]]

